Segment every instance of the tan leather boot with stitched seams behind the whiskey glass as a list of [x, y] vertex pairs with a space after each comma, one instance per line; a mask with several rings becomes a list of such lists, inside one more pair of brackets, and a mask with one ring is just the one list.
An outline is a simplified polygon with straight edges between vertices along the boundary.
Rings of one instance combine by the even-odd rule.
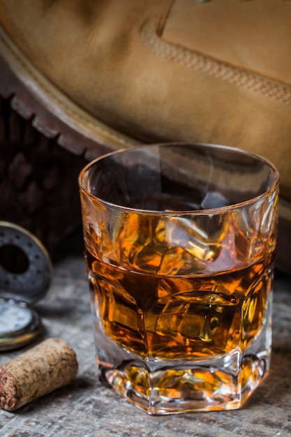
[[0, 0], [0, 91], [87, 158], [161, 140], [266, 156], [290, 269], [290, 16], [285, 0]]

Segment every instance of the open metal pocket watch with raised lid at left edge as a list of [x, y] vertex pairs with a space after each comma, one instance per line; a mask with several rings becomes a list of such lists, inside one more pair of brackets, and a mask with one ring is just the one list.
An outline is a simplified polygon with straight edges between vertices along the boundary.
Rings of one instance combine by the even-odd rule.
[[31, 307], [50, 287], [52, 262], [24, 228], [0, 221], [0, 351], [24, 346], [42, 331]]

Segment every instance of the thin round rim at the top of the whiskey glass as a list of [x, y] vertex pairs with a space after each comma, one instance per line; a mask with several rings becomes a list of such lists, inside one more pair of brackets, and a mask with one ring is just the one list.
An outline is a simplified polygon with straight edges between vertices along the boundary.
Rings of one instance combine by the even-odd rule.
[[[86, 172], [89, 170], [89, 168], [93, 167], [97, 162], [102, 161], [105, 158], [110, 158], [110, 156], [118, 155], [118, 154], [124, 154], [128, 153], [130, 151], [136, 151], [138, 149], [147, 149], [149, 147], [170, 147], [170, 146], [198, 146], [198, 147], [210, 147], [213, 149], [225, 149], [228, 151], [232, 151], [235, 153], [242, 154], [244, 156], [251, 156], [255, 158], [255, 160], [260, 161], [261, 163], [264, 163], [269, 167], [269, 169], [273, 170], [274, 172], [274, 182], [273, 184], [266, 190], [264, 193], [261, 193], [259, 195], [255, 195], [248, 200], [244, 200], [243, 202], [237, 202], [232, 203], [230, 205], [226, 205], [223, 207], [214, 207], [214, 208], [204, 208], [204, 209], [174, 209], [172, 211], [163, 211], [161, 209], [142, 209], [142, 208], [133, 208], [133, 207], [126, 207], [124, 205], [117, 205], [116, 203], [109, 202], [108, 200], [99, 198], [98, 196], [91, 194], [87, 188], [84, 186], [84, 176]], [[207, 142], [189, 142], [189, 141], [179, 141], [179, 142], [157, 142], [157, 143], [149, 143], [149, 144], [140, 144], [140, 145], [134, 145], [130, 147], [123, 147], [122, 149], [109, 151], [106, 154], [100, 155], [97, 158], [94, 158], [92, 161], [89, 161], [87, 165], [85, 165], [82, 170], [79, 173], [78, 179], [77, 179], [80, 191], [83, 191], [89, 198], [106, 205], [107, 207], [112, 207], [114, 209], [121, 209], [124, 212], [132, 212], [135, 214], [154, 214], [154, 215], [161, 215], [163, 216], [168, 215], [171, 216], [173, 214], [175, 215], [210, 215], [210, 214], [221, 214], [223, 212], [230, 211], [231, 209], [239, 209], [241, 207], [246, 207], [248, 205], [251, 205], [255, 202], [257, 202], [259, 199], [264, 199], [268, 197], [271, 193], [273, 193], [276, 188], [278, 187], [278, 184], [280, 182], [280, 174], [278, 172], [278, 169], [276, 168], [276, 165], [274, 165], [271, 161], [269, 161], [268, 158], [265, 158], [264, 156], [260, 154], [255, 154], [251, 151], [247, 151], [245, 149], [240, 149], [239, 147], [231, 147], [226, 145], [218, 145], [214, 143], [207, 143]]]

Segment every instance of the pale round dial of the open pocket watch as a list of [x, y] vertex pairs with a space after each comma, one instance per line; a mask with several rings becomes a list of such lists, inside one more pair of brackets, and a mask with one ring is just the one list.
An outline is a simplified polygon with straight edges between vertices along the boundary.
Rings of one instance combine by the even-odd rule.
[[29, 309], [11, 303], [0, 304], [0, 335], [10, 334], [27, 327], [32, 321]]

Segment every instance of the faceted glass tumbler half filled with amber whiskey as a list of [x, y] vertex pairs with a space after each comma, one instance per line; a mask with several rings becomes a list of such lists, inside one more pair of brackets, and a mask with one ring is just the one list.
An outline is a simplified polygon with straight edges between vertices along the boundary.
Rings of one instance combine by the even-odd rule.
[[169, 143], [80, 173], [100, 380], [149, 414], [240, 408], [267, 376], [279, 175]]

